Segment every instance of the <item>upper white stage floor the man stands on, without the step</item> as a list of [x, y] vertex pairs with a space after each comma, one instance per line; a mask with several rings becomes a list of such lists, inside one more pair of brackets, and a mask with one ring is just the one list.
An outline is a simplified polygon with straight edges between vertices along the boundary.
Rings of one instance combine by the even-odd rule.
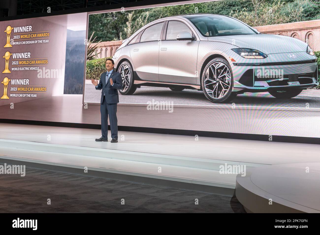
[[[96, 142], [98, 129], [0, 123], [0, 139], [237, 161], [257, 164], [316, 162], [320, 145], [119, 131], [119, 142]], [[111, 140], [109, 131], [109, 141]], [[48, 140], [50, 135], [50, 140]], [[124, 140], [121, 140], [122, 135]]]

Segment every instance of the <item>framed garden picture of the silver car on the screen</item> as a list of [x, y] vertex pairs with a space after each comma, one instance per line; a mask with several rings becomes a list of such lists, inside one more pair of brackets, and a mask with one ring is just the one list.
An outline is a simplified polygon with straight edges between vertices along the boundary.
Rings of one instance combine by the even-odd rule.
[[315, 22], [296, 22], [306, 20], [303, 9], [252, 16], [246, 7], [268, 2], [238, 4], [242, 11], [221, 1], [90, 14], [88, 36], [99, 43], [84, 102], [100, 102], [90, 80], [112, 58], [123, 74], [121, 103], [319, 108]]

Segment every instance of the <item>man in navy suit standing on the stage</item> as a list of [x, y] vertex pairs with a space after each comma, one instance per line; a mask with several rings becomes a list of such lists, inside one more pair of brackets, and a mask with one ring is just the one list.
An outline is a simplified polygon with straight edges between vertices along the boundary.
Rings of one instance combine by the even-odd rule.
[[119, 102], [118, 90], [122, 90], [122, 78], [120, 73], [113, 70], [115, 62], [113, 59], [106, 60], [107, 72], [100, 76], [100, 82], [92, 79], [96, 90], [102, 90], [100, 113], [101, 113], [101, 133], [102, 136], [96, 141], [108, 141], [108, 115], [111, 129], [111, 143], [118, 142], [118, 120], [117, 103]]

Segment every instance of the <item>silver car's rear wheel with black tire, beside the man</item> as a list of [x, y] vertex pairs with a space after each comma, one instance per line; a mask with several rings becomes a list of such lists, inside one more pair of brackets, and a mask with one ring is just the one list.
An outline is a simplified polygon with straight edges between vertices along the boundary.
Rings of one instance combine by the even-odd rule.
[[[125, 72], [130, 73], [130, 78], [128, 77], [123, 77], [122, 70], [124, 69]], [[132, 95], [136, 90], [137, 86], [134, 84], [134, 74], [133, 74], [133, 68], [132, 65], [128, 60], [123, 61], [120, 66], [117, 69], [118, 73], [121, 74], [122, 77], [122, 84], [123, 84], [123, 89], [119, 90], [121, 95]], [[129, 84], [128, 84], [129, 83]], [[128, 85], [128, 86], [127, 86]]]

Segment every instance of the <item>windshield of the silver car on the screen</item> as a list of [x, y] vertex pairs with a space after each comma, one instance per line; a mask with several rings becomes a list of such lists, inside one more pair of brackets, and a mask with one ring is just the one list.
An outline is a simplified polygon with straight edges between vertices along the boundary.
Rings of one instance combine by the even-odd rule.
[[257, 34], [244, 23], [228, 16], [208, 15], [188, 18], [206, 37]]

